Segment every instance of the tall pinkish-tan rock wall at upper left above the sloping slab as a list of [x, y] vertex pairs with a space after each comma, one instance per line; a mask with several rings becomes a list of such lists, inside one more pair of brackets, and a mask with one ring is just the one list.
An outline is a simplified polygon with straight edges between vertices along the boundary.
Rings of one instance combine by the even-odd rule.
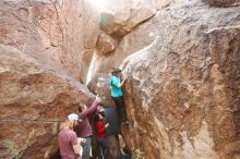
[[[84, 5], [83, 5], [84, 4]], [[99, 14], [86, 0], [0, 1], [0, 42], [14, 46], [47, 69], [86, 78], [98, 39]]]

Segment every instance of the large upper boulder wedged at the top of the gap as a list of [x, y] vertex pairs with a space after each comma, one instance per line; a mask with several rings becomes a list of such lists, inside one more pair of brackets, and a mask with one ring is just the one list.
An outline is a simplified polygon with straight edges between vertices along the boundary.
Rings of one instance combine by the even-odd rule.
[[101, 29], [107, 34], [125, 35], [156, 13], [155, 0], [115, 0], [100, 15]]

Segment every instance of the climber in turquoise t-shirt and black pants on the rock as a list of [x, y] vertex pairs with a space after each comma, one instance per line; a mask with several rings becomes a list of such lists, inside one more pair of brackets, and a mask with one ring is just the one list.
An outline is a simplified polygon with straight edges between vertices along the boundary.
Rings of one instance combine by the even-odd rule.
[[120, 69], [115, 69], [111, 72], [111, 76], [109, 78], [109, 85], [111, 88], [111, 98], [115, 101], [117, 107], [118, 118], [120, 119], [121, 123], [128, 123], [127, 121], [127, 113], [125, 113], [125, 105], [123, 100], [123, 94], [121, 87], [123, 86], [125, 78], [122, 78], [122, 73]]

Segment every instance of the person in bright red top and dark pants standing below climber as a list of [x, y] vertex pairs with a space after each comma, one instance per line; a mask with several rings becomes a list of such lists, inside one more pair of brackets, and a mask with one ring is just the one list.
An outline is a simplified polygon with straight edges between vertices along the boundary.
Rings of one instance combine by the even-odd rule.
[[107, 140], [105, 138], [105, 130], [109, 126], [109, 123], [105, 124], [104, 118], [100, 113], [96, 113], [95, 115], [95, 129], [97, 135], [97, 156], [98, 159], [107, 159], [109, 154], [109, 148]]

